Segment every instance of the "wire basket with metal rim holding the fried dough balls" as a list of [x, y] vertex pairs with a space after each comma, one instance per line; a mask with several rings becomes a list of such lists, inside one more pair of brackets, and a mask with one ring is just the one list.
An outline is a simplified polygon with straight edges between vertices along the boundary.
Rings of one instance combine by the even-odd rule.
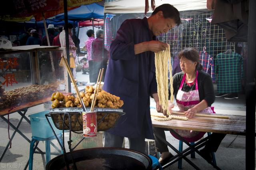
[[[73, 132], [83, 130], [82, 108], [55, 108], [49, 110], [49, 114], [56, 128], [60, 130], [71, 130]], [[86, 108], [86, 110], [90, 110], [90, 108]], [[120, 116], [125, 114], [122, 109], [94, 108], [94, 111], [97, 112], [98, 131], [113, 128]]]

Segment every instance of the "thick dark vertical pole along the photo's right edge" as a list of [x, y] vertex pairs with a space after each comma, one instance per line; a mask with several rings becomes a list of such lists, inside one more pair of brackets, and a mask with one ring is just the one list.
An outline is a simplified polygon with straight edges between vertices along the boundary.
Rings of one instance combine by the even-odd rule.
[[[246, 81], [246, 170], [255, 168], [255, 65], [256, 65], [256, 1], [249, 2], [248, 61]], [[254, 168], [253, 168], [254, 167]]]

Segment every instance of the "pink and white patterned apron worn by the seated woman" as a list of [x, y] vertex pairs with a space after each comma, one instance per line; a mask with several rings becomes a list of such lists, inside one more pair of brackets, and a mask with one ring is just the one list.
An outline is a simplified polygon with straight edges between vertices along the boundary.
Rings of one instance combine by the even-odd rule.
[[[180, 109], [180, 111], [187, 111], [188, 109], [194, 107], [198, 103], [200, 103], [199, 99], [199, 93], [198, 93], [198, 83], [197, 83], [197, 76], [198, 76], [198, 71], [196, 71], [196, 89], [189, 91], [189, 92], [184, 92], [182, 91], [182, 87], [184, 85], [185, 79], [186, 79], [186, 73], [184, 74], [182, 81], [180, 83], [180, 88], [178, 90], [177, 96], [176, 96], [176, 103]], [[213, 113], [213, 110], [211, 107], [207, 107], [206, 109], [203, 109], [200, 111], [200, 113]], [[198, 131], [193, 131], [193, 130], [180, 130], [180, 129], [175, 129], [175, 131], [180, 134], [186, 141], [188, 142], [195, 142], [202, 138], [206, 132], [198, 132]], [[175, 138], [179, 139], [178, 136], [173, 134], [171, 132], [172, 136]], [[180, 139], [179, 139], [180, 140]]]

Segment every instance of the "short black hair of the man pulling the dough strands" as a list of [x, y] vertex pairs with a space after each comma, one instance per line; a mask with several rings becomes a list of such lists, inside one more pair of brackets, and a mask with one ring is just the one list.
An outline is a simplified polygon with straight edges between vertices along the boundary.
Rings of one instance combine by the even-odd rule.
[[162, 4], [158, 6], [153, 12], [152, 15], [155, 15], [157, 12], [162, 11], [164, 18], [174, 19], [177, 25], [180, 25], [180, 12], [171, 4]]

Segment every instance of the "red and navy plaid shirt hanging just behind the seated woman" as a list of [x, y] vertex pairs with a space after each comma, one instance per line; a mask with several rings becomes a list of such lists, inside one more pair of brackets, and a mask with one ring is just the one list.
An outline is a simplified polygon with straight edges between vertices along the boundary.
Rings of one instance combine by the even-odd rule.
[[215, 71], [213, 57], [210, 56], [206, 51], [199, 51], [200, 63], [203, 66], [203, 70], [211, 75], [212, 82], [215, 82]]

